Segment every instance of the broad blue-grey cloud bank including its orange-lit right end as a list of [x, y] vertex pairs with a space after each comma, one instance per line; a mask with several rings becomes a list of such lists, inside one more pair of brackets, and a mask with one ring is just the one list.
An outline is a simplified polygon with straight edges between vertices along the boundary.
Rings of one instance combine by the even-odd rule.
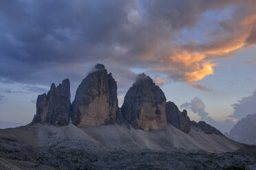
[[[231, 42], [240, 36], [222, 35], [206, 44], [175, 45], [173, 41], [182, 29], [195, 27], [207, 10], [239, 5], [244, 10], [236, 11], [235, 19], [242, 21], [252, 16], [255, 7], [255, 1], [236, 0], [141, 2], [142, 6], [136, 0], [0, 1], [0, 81], [49, 85], [69, 77], [78, 86], [88, 67], [100, 62], [113, 72], [120, 91], [136, 77], [131, 67], [211, 91], [193, 82], [213, 74], [214, 51], [233, 51]], [[223, 27], [233, 28], [236, 23]], [[243, 43], [244, 39], [238, 41], [237, 48]], [[226, 46], [220, 49], [220, 45]], [[186, 56], [189, 60], [183, 59]]]

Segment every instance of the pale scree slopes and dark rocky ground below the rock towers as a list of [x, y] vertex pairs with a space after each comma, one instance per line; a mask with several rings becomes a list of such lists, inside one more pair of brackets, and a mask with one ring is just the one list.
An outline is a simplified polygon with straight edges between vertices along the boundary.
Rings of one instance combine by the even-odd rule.
[[255, 147], [198, 131], [192, 127], [186, 134], [169, 125], [145, 132], [117, 124], [0, 130], [0, 169], [256, 168]]

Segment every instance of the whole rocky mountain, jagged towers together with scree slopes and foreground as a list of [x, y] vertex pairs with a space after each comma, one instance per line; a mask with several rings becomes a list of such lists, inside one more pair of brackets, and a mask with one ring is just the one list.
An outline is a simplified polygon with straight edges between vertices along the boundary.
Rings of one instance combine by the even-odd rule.
[[0, 169], [255, 169], [255, 155], [255, 146], [191, 121], [145, 74], [118, 108], [116, 81], [103, 64], [72, 104], [63, 80], [39, 95], [32, 123], [0, 130]]

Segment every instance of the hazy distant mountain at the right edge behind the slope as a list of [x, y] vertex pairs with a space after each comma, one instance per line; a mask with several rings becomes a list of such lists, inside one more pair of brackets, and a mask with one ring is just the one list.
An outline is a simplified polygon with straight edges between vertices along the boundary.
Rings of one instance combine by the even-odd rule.
[[256, 145], [256, 113], [248, 114], [229, 132], [228, 137], [240, 143]]

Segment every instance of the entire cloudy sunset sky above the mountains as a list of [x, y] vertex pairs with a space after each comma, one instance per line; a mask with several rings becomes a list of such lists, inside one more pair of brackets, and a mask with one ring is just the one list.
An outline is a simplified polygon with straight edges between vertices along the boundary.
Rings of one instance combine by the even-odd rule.
[[0, 1], [0, 128], [30, 123], [36, 97], [96, 63], [118, 84], [138, 73], [222, 132], [256, 111], [255, 0]]

